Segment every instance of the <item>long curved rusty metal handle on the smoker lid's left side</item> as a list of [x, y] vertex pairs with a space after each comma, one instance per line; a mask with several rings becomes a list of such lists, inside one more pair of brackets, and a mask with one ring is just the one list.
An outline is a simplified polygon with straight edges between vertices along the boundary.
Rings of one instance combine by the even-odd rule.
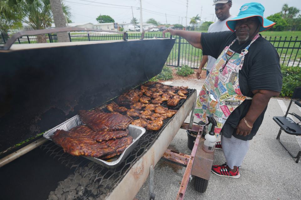
[[5, 43], [4, 46], [0, 46], [0, 50], [9, 50], [9, 48], [13, 45], [13, 43], [21, 36], [25, 35], [41, 35], [47, 33], [54, 32], [68, 32], [68, 31], [95, 31], [95, 32], [116, 32], [123, 33], [123, 40], [126, 40], [126, 32], [117, 32], [117, 31], [109, 31], [102, 29], [92, 29], [92, 28], [78, 28], [78, 27], [61, 27], [61, 28], [51, 28], [51, 29], [41, 29], [41, 30], [33, 30], [33, 31], [20, 31], [12, 35]]

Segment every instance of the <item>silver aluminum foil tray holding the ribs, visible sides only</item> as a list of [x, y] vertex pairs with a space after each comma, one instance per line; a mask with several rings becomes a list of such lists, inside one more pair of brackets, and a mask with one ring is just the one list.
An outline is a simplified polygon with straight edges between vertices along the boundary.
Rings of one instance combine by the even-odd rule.
[[[61, 123], [60, 125], [56, 126], [55, 128], [50, 129], [49, 131], [44, 133], [44, 138], [47, 138], [51, 140], [51, 136], [57, 129], [69, 131], [71, 128], [74, 128], [76, 126], [82, 125], [82, 120], [79, 117], [79, 115], [74, 116], [73, 118], [68, 119], [66, 122]], [[139, 141], [139, 138], [145, 133], [145, 128], [129, 125], [129, 135], [133, 137], [133, 142], [124, 150], [124, 152], [119, 155], [115, 156], [109, 160], [102, 160], [99, 158], [92, 158], [92, 157], [85, 157], [89, 160], [92, 160], [95, 163], [98, 163], [100, 165], [103, 165], [107, 168], [116, 168], [118, 167], [124, 159], [131, 153], [131, 151], [136, 147], [137, 142]]]

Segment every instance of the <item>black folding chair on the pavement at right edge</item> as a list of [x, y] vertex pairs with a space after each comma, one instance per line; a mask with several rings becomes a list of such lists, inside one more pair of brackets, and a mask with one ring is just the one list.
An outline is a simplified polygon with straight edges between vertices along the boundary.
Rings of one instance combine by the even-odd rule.
[[[290, 135], [296, 135], [297, 141], [301, 147], [300, 141], [298, 140], [299, 137], [301, 137], [301, 116], [297, 115], [296, 113], [289, 113], [289, 109], [291, 108], [292, 103], [295, 103], [299, 107], [301, 107], [301, 87], [297, 87], [294, 90], [293, 96], [291, 98], [291, 101], [289, 103], [288, 109], [283, 117], [273, 117], [273, 120], [280, 126], [280, 130], [277, 135], [277, 140], [282, 144], [282, 146], [288, 151], [288, 153], [293, 157], [297, 158], [296, 163], [299, 162], [299, 159], [301, 157], [301, 150], [298, 152], [297, 156], [293, 156], [293, 154], [284, 146], [284, 144], [280, 140], [281, 132], [284, 131], [285, 133], [288, 133]], [[293, 115], [295, 118], [297, 118], [300, 122], [296, 123], [293, 121], [293, 119], [287, 117], [288, 114]]]

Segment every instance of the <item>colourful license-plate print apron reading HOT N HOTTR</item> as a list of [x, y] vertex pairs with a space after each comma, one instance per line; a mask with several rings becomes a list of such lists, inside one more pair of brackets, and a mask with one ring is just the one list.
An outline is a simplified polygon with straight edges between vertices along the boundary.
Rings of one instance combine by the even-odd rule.
[[[259, 34], [252, 39], [251, 43], [241, 53], [235, 53], [230, 49], [230, 46], [237, 39], [225, 47], [219, 58], [216, 59], [198, 95], [194, 115], [207, 124], [206, 115], [213, 114], [217, 122], [217, 127], [214, 129], [217, 136], [235, 108], [240, 106], [244, 100], [252, 99], [240, 92], [238, 73], [244, 64], [244, 58], [249, 47], [258, 37], [260, 37]], [[211, 126], [212, 124], [206, 128], [207, 133]]]

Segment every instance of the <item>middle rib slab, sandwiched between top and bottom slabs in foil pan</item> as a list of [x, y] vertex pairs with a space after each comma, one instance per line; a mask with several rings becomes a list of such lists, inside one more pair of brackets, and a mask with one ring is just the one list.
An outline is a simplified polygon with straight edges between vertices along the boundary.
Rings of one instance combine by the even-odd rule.
[[93, 131], [91, 128], [89, 128], [86, 125], [81, 125], [81, 126], [71, 128], [69, 132], [71, 133], [76, 132], [76, 133], [87, 135], [97, 142], [122, 138], [129, 134], [129, 131], [127, 129], [121, 131]]

